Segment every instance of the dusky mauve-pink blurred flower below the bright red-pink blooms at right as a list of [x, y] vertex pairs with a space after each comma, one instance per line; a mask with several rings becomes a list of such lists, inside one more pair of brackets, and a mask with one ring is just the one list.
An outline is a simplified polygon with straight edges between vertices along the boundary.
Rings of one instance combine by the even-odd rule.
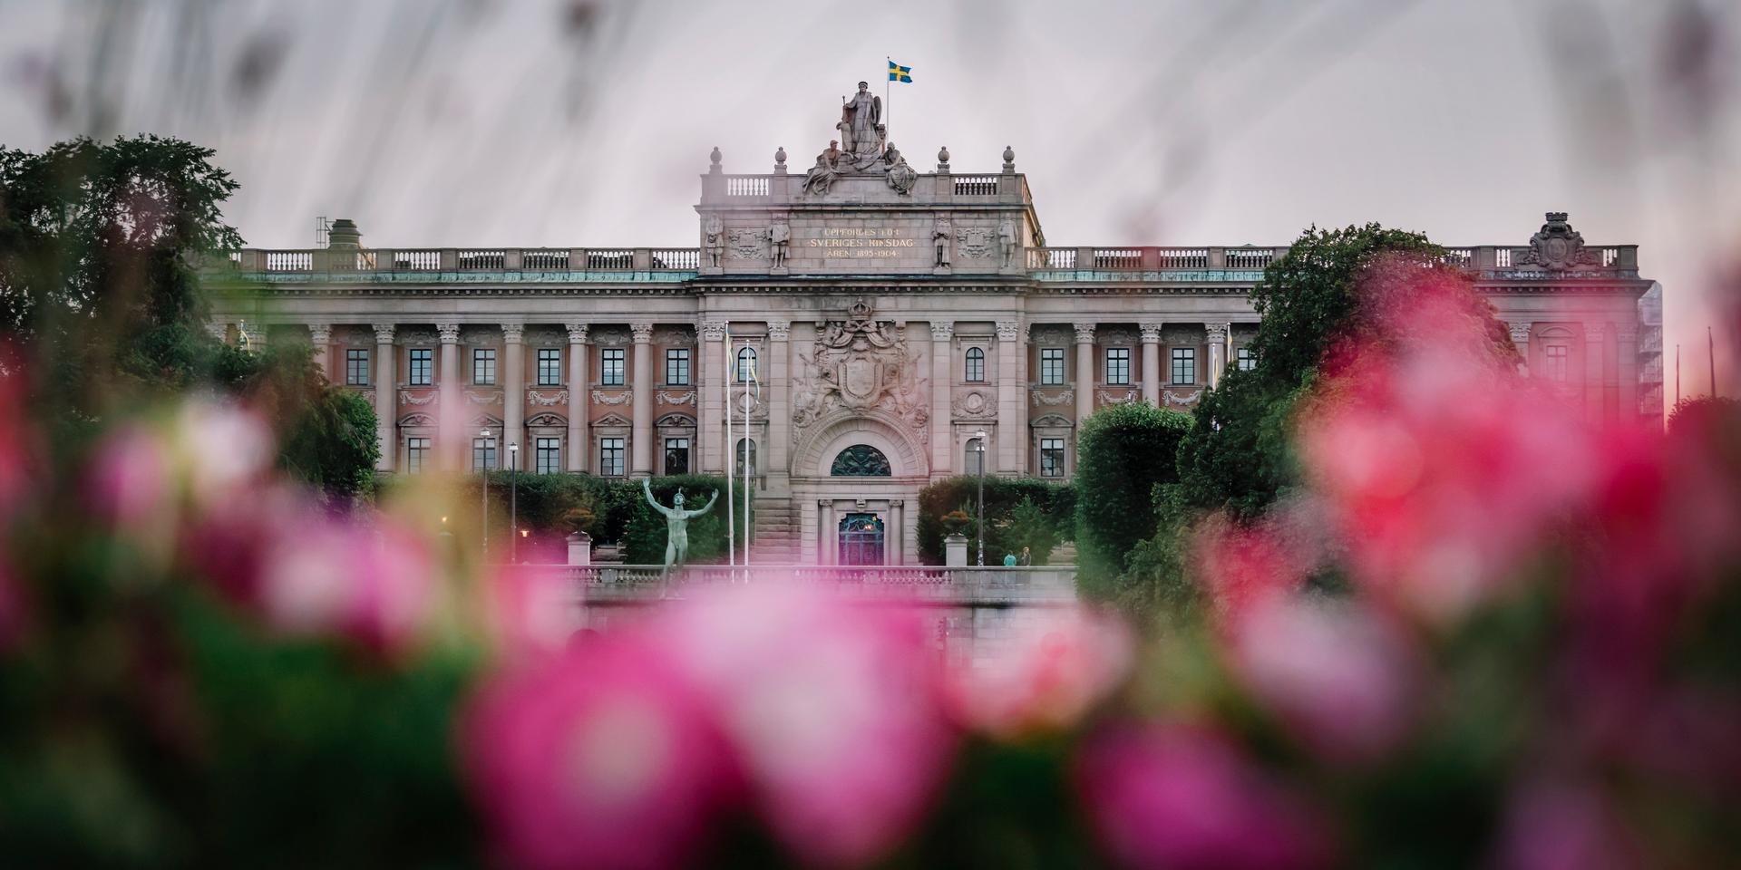
[[1234, 623], [1233, 659], [1252, 694], [1332, 760], [1372, 760], [1414, 722], [1415, 651], [1368, 607], [1269, 599]]

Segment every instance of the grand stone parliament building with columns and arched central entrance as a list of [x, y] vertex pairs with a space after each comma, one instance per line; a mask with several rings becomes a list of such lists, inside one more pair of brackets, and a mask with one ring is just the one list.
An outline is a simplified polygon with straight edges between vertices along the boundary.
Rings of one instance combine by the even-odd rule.
[[[980, 174], [947, 148], [918, 172], [881, 130], [853, 148], [803, 171], [782, 148], [764, 174], [716, 148], [693, 247], [385, 249], [336, 221], [326, 247], [242, 251], [212, 329], [312, 341], [374, 404], [381, 472], [503, 468], [507, 445], [531, 473], [747, 454], [761, 559], [804, 564], [912, 562], [926, 482], [982, 461], [1067, 480], [1097, 407], [1187, 409], [1250, 365], [1247, 296], [1283, 247], [1057, 247], [1008, 148]], [[1551, 212], [1452, 258], [1532, 376], [1593, 418], [1661, 418], [1637, 245]]]

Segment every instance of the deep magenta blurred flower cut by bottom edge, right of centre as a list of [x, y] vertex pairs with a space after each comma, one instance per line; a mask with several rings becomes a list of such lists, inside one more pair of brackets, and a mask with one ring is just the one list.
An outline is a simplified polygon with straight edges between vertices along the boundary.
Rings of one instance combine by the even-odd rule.
[[1267, 870], [1330, 861], [1306, 804], [1207, 731], [1112, 731], [1088, 743], [1079, 764], [1100, 842], [1125, 867]]

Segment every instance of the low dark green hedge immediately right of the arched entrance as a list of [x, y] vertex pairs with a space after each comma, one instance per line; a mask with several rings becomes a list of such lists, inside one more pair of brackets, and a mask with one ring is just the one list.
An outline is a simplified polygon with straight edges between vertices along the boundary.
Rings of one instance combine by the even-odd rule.
[[[959, 475], [938, 480], [919, 491], [919, 560], [931, 566], [944, 564], [944, 536], [949, 513], [961, 512], [961, 534], [968, 539], [978, 536], [978, 475]], [[1027, 501], [1032, 515], [1043, 519], [1050, 529], [1053, 546], [1059, 539], [1069, 539], [1074, 531], [1076, 489], [1071, 484], [1052, 484], [1031, 477], [985, 477], [985, 560], [1003, 559], [1003, 553], [1020, 553], [1024, 543], [1032, 548], [1034, 564], [1041, 566], [1041, 548], [1034, 541], [1043, 539], [1034, 529], [1032, 515], [1027, 525], [1015, 522], [1015, 508]], [[1050, 552], [1050, 546], [1046, 546]]]

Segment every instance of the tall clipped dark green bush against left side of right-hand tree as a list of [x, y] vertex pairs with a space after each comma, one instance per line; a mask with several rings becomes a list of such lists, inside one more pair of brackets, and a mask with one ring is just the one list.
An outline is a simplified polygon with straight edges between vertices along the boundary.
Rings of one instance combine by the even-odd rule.
[[1076, 435], [1078, 586], [1106, 597], [1125, 557], [1154, 534], [1154, 487], [1177, 480], [1191, 416], [1146, 402], [1097, 411]]

